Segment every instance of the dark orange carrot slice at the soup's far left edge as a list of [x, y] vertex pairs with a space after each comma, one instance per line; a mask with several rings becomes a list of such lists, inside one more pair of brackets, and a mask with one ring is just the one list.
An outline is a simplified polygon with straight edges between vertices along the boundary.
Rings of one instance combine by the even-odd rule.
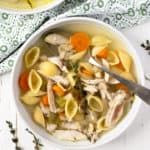
[[27, 91], [29, 89], [28, 76], [28, 73], [22, 73], [19, 77], [19, 86], [23, 91]]

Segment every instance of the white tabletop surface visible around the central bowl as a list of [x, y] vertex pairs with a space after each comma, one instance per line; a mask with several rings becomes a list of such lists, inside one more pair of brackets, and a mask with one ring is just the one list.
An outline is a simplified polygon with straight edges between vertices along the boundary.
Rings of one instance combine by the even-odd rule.
[[[150, 22], [123, 30], [141, 57], [145, 73], [150, 72], [150, 56], [140, 47], [141, 41], [150, 39]], [[146, 82], [150, 87], [150, 82]], [[133, 124], [116, 140], [102, 146], [101, 150], [149, 150], [150, 149], [150, 107], [142, 104]], [[16, 110], [10, 94], [10, 73], [0, 76], [0, 150], [14, 150], [6, 120], [15, 121]], [[25, 131], [26, 125], [18, 116], [18, 134], [24, 150], [33, 150], [32, 137]], [[45, 143], [43, 150], [58, 150]]]

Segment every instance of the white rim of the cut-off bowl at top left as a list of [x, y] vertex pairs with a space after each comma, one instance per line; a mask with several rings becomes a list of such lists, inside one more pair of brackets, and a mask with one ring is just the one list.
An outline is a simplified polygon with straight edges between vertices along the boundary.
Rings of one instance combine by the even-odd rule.
[[59, 4], [61, 4], [62, 2], [64, 2], [64, 0], [54, 0], [53, 2], [38, 7], [38, 8], [33, 8], [33, 9], [24, 9], [24, 10], [15, 10], [15, 9], [11, 9], [11, 8], [5, 8], [3, 6], [0, 6], [0, 11], [8, 13], [8, 14], [17, 14], [17, 15], [29, 15], [29, 14], [34, 14], [34, 13], [40, 13], [43, 11], [47, 11], [50, 10], [56, 6], [58, 6]]

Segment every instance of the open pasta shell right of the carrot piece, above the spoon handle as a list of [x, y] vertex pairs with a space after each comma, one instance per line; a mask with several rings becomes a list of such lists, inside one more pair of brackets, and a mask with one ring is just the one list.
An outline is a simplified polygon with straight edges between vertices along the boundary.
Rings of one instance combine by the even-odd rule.
[[106, 59], [111, 66], [119, 64], [120, 61], [115, 51], [109, 51]]

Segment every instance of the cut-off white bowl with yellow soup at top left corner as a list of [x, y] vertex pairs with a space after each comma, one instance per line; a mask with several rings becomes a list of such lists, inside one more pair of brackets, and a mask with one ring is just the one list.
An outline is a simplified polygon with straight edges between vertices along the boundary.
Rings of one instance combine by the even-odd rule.
[[50, 10], [64, 0], [0, 0], [0, 9], [7, 13], [33, 14]]

